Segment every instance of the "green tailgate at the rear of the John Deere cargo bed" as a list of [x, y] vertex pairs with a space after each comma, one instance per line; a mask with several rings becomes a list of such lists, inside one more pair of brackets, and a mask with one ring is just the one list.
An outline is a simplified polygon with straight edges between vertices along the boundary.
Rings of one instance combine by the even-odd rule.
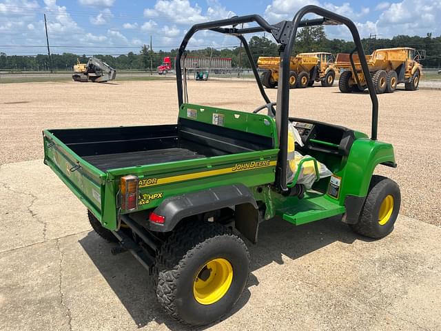
[[50, 130], [43, 131], [44, 163], [101, 221], [106, 174], [65, 146]]

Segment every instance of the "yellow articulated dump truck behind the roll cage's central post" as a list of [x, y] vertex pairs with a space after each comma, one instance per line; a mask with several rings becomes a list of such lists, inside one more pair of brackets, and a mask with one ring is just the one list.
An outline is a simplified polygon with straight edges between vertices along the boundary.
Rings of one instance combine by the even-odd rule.
[[[326, 52], [300, 53], [290, 58], [289, 88], [306, 88], [320, 81], [322, 86], [332, 86], [336, 78], [332, 54]], [[257, 66], [267, 69], [260, 76], [263, 86], [276, 88], [280, 57], [259, 57]]]

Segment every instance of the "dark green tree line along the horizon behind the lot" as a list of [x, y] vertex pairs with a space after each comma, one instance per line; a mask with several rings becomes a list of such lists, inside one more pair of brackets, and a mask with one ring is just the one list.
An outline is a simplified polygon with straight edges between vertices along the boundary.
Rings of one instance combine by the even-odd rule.
[[[391, 39], [381, 38], [365, 38], [362, 39], [365, 52], [370, 54], [378, 48], [393, 47], [411, 47], [423, 49], [427, 51], [427, 56], [421, 61], [422, 65], [427, 68], [441, 68], [441, 36], [432, 37], [431, 33], [427, 33], [426, 37], [398, 35]], [[293, 53], [299, 52], [351, 52], [354, 48], [353, 41], [345, 41], [343, 39], [328, 39], [322, 26], [305, 27], [299, 30], [294, 46]], [[254, 36], [249, 40], [249, 49], [252, 54], [253, 61], [256, 62], [260, 56], [278, 56], [278, 46], [267, 37]], [[121, 55], [96, 54], [95, 57], [107, 62], [110, 66], [117, 70], [142, 69], [156, 70], [161, 65], [164, 57], [176, 57], [178, 48], [169, 52], [159, 50], [150, 50], [148, 46], [142, 46], [139, 52], [129, 52]], [[232, 59], [233, 68], [249, 68], [249, 61], [245, 54], [245, 50], [240, 46], [235, 48], [204, 48], [201, 50], [189, 50], [189, 57], [227, 57]], [[0, 69], [7, 70], [72, 70], [72, 66], [77, 61], [86, 63], [88, 57], [85, 54], [52, 54], [52, 65], [47, 54], [38, 54], [36, 56], [24, 55], [8, 55], [0, 52]]]

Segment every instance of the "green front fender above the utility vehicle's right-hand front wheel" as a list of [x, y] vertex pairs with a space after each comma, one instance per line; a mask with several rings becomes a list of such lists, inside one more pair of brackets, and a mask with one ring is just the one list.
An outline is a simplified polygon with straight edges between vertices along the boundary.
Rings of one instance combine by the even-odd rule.
[[366, 197], [373, 170], [380, 163], [395, 165], [393, 146], [390, 143], [367, 138], [356, 139], [345, 166], [337, 173], [342, 177], [339, 202], [345, 203], [347, 195]]

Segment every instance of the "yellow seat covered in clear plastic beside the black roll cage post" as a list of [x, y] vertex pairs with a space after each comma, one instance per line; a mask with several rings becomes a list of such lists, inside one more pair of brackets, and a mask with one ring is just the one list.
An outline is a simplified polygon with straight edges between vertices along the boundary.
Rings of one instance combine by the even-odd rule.
[[[297, 172], [297, 167], [302, 159], [306, 159], [310, 157], [309, 155], [303, 156], [299, 152], [294, 150], [295, 143], [298, 143], [300, 146], [303, 146], [302, 139], [297, 129], [292, 125], [291, 122], [288, 124], [288, 173], [287, 173], [287, 182], [290, 183], [293, 181], [294, 176]], [[318, 167], [318, 176], [319, 178], [325, 178], [331, 176], [332, 172], [324, 165], [323, 163], [316, 161]], [[300, 173], [298, 174], [297, 184], [303, 184], [309, 190], [314, 182], [316, 181], [316, 168], [314, 166], [314, 161], [305, 161], [302, 163], [302, 168]]]

